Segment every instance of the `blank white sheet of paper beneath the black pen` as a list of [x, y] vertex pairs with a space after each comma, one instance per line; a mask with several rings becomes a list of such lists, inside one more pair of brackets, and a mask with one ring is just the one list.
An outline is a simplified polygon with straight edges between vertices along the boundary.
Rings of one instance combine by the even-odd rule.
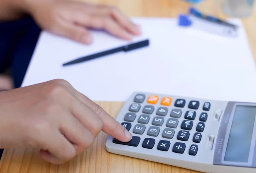
[[62, 63], [127, 41], [93, 31], [82, 45], [43, 32], [22, 86], [56, 78], [69, 81], [93, 101], [125, 101], [145, 91], [230, 101], [256, 101], [256, 68], [244, 27], [227, 38], [180, 28], [175, 18], [134, 17], [150, 46], [63, 67]]

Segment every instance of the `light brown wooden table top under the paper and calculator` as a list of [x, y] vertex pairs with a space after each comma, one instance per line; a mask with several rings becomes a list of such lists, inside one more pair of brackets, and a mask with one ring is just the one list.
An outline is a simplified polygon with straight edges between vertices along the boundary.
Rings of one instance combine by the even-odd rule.
[[[182, 0], [89, 0], [92, 3], [117, 6], [128, 16], [177, 17], [187, 12], [189, 4]], [[207, 0], [198, 8], [208, 14], [227, 17], [218, 0]], [[255, 9], [255, 8], [254, 8]], [[249, 43], [256, 61], [256, 10], [243, 19]], [[116, 117], [124, 103], [97, 102], [110, 115]], [[92, 147], [61, 165], [41, 159], [37, 149], [6, 149], [0, 161], [0, 173], [198, 173], [179, 167], [134, 159], [108, 153], [105, 150], [107, 134], [100, 133]]]

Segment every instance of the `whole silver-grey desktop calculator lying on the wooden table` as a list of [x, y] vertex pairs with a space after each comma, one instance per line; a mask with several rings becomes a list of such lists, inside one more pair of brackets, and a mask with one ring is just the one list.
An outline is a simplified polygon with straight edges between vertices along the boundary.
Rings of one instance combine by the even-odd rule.
[[256, 103], [148, 92], [130, 95], [116, 121], [133, 136], [106, 150], [206, 173], [256, 172]]

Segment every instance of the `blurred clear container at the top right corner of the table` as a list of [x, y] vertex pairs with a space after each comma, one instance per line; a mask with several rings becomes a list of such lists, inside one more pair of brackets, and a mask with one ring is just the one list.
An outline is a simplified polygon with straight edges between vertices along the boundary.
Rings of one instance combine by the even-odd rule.
[[224, 12], [230, 17], [249, 17], [255, 0], [222, 0]]

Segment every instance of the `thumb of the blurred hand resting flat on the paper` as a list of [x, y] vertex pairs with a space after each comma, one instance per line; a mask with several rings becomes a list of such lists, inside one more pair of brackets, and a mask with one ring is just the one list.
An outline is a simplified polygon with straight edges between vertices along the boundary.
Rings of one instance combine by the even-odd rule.
[[54, 31], [56, 35], [61, 35], [83, 44], [90, 44], [92, 42], [90, 32], [83, 26], [65, 21], [62, 21], [58, 26], [58, 29]]

